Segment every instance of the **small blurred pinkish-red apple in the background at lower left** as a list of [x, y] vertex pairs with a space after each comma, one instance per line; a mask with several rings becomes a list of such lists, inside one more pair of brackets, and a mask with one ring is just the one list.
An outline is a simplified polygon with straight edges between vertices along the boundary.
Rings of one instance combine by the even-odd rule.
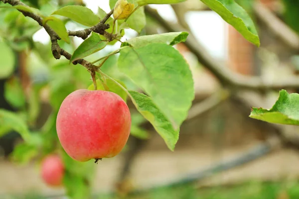
[[51, 187], [62, 186], [64, 165], [56, 154], [46, 156], [41, 162], [41, 177]]

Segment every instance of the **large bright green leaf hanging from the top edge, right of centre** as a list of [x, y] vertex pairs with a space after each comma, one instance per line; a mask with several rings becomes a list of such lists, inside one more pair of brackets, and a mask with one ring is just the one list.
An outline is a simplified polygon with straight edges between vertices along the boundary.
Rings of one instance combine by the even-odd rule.
[[260, 39], [254, 22], [234, 0], [201, 0], [212, 10], [217, 12], [227, 23], [238, 30], [248, 41], [260, 46]]

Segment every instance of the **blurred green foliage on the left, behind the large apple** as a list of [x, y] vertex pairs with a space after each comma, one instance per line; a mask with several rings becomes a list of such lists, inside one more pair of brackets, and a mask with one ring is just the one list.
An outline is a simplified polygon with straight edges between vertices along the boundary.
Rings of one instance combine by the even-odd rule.
[[[65, 5], [80, 4], [80, 0], [57, 2], [57, 0], [25, 1], [46, 15]], [[0, 2], [0, 6], [9, 5]], [[82, 25], [68, 19], [64, 19], [63, 23], [66, 26], [83, 29]], [[11, 160], [19, 164], [27, 164], [37, 158], [39, 162], [47, 154], [58, 152], [65, 165], [64, 186], [67, 195], [72, 199], [90, 198], [94, 161], [81, 163], [71, 159], [60, 146], [56, 133], [56, 116], [61, 102], [71, 92], [87, 89], [92, 85], [90, 73], [81, 65], [70, 64], [64, 57], [60, 60], [54, 59], [51, 43], [46, 38], [44, 41], [33, 41], [33, 34], [41, 27], [18, 10], [1, 8], [0, 24], [0, 79], [6, 80], [4, 98], [14, 108], [14, 112], [4, 109], [0, 111], [0, 136], [15, 130], [25, 140], [15, 146]], [[78, 44], [75, 44], [74, 40], [71, 42], [72, 44], [69, 45], [63, 40], [58, 41], [63, 49], [73, 53]], [[97, 60], [109, 54], [113, 48], [115, 46], [103, 49], [86, 57], [86, 60]], [[118, 72], [116, 63], [117, 56], [111, 56], [102, 66], [103, 71], [124, 81], [125, 84], [129, 83], [130, 89], [136, 89], [137, 87], [128, 78]], [[26, 90], [24, 89], [26, 83], [24, 85], [22, 82], [24, 80], [21, 80], [23, 74], [20, 76], [24, 70], [30, 81]], [[123, 97], [125, 98], [126, 94]], [[42, 112], [41, 106], [45, 103], [51, 107], [49, 115]], [[46, 121], [41, 123], [40, 116], [46, 116]], [[139, 121], [140, 119], [138, 122], [133, 122], [134, 129], [137, 129], [134, 135], [138, 136], [140, 132], [144, 136], [146, 132], [138, 127]], [[36, 194], [21, 198], [42, 199]]]

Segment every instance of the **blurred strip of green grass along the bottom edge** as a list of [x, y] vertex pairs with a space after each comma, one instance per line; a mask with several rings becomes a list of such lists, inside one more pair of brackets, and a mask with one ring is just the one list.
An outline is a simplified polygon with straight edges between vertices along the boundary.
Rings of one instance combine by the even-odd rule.
[[[37, 199], [37, 194], [24, 198]], [[45, 199], [39, 196], [38, 199]], [[54, 197], [53, 199], [62, 199]], [[94, 199], [120, 199], [111, 195], [97, 195]], [[299, 199], [299, 182], [250, 182], [237, 186], [196, 189], [191, 185], [154, 189], [121, 199]]]

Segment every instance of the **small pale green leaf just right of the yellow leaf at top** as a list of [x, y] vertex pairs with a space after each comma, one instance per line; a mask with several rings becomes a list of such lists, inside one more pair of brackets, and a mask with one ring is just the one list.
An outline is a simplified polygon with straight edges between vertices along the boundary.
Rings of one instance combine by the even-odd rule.
[[127, 23], [129, 24], [130, 28], [132, 28], [133, 30], [136, 30], [138, 33], [140, 33], [143, 30], [143, 28], [146, 26], [146, 23], [147, 23], [145, 8], [144, 7], [138, 8], [128, 18]]

